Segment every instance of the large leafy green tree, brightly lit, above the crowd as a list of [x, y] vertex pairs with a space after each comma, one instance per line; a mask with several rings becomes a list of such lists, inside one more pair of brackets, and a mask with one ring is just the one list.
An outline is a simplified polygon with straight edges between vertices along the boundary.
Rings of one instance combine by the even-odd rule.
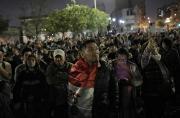
[[108, 24], [108, 15], [98, 9], [92, 9], [84, 5], [70, 4], [62, 10], [56, 10], [46, 19], [48, 32], [82, 33], [84, 30], [96, 30], [105, 28]]

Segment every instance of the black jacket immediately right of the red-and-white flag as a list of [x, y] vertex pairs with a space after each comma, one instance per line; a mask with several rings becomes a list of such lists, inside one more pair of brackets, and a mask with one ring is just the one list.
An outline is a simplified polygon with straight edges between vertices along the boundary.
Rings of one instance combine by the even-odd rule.
[[[116, 112], [117, 84], [105, 62], [98, 68], [93, 99], [93, 118], [110, 118]], [[115, 118], [115, 117], [112, 117]]]

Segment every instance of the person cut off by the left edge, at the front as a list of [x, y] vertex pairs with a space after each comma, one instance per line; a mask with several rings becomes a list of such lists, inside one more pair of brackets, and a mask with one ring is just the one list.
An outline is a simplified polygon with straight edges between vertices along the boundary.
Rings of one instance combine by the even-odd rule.
[[11, 65], [3, 61], [4, 53], [0, 50], [0, 117], [13, 118], [10, 109], [10, 79], [12, 75]]

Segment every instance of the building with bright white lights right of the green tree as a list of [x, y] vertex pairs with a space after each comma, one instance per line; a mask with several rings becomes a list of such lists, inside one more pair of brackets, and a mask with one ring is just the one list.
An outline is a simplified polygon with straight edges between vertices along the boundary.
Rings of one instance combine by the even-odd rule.
[[137, 31], [145, 15], [145, 0], [115, 0], [115, 10], [111, 17], [117, 19], [117, 29], [129, 32]]

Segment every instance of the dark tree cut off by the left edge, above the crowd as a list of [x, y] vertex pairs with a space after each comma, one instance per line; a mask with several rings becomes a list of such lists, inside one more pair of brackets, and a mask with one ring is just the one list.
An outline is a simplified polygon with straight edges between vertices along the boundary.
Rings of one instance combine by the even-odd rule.
[[0, 34], [2, 34], [4, 31], [6, 31], [8, 29], [8, 20], [2, 18], [2, 16], [0, 16]]

